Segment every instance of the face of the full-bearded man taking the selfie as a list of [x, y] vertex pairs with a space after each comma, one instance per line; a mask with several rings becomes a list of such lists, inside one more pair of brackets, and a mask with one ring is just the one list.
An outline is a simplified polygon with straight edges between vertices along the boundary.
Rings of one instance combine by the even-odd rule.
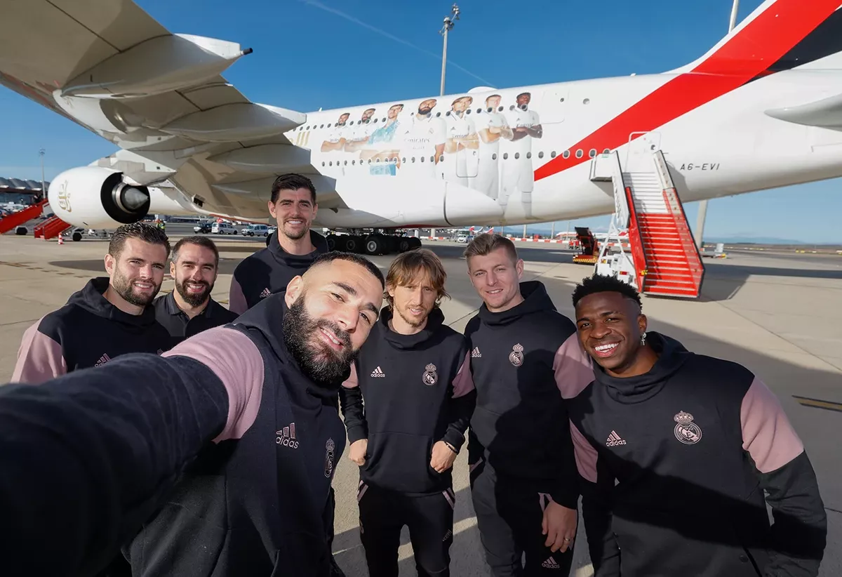
[[302, 370], [320, 382], [343, 376], [368, 339], [383, 302], [380, 280], [336, 259], [290, 280], [284, 339]]

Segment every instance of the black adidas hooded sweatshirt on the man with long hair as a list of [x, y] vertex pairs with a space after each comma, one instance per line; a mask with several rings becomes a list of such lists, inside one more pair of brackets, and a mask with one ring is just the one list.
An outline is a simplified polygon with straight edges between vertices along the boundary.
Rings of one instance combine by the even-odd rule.
[[429, 466], [433, 446], [446, 441], [460, 450], [475, 400], [466, 339], [438, 307], [416, 334], [390, 329], [392, 314], [383, 310], [340, 389], [348, 440], [368, 439], [365, 484], [439, 493], [450, 488], [452, 467]]

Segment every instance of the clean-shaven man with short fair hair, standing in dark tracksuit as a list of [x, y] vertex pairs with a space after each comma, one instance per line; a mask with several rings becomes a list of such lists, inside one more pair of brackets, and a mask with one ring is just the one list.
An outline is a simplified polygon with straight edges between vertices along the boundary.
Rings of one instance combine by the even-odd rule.
[[[477, 525], [495, 577], [568, 574], [578, 473], [559, 383], [577, 371], [576, 328], [499, 234], [465, 249], [482, 306], [466, 326], [477, 407], [468, 463]], [[525, 553], [525, 565], [521, 558]]]

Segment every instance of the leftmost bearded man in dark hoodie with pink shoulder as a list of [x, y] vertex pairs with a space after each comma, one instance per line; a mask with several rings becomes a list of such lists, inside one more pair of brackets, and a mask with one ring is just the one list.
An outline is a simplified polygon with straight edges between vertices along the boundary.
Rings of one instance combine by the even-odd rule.
[[167, 235], [142, 222], [111, 235], [108, 277], [88, 280], [67, 304], [24, 333], [13, 382], [38, 384], [66, 372], [101, 366], [125, 353], [160, 353], [169, 335], [151, 307], [163, 283]]

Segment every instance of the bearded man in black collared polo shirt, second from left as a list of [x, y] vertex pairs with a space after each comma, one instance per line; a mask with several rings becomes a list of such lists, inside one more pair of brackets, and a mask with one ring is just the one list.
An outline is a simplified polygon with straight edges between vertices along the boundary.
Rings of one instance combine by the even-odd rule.
[[175, 289], [155, 300], [155, 316], [169, 331], [172, 346], [237, 318], [210, 297], [219, 272], [219, 249], [210, 238], [184, 237], [175, 243], [169, 274]]

